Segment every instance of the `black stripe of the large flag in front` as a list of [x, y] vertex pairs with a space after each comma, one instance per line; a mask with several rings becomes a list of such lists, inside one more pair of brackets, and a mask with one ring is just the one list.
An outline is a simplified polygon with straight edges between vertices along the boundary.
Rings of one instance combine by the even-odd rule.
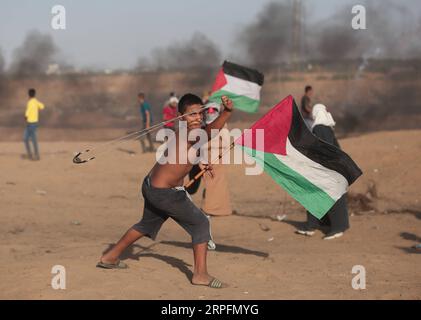
[[295, 149], [325, 168], [343, 175], [348, 181], [348, 185], [351, 185], [362, 175], [361, 169], [349, 155], [334, 145], [320, 140], [310, 132], [298, 111], [295, 101], [293, 101], [292, 105], [291, 121], [288, 138]]

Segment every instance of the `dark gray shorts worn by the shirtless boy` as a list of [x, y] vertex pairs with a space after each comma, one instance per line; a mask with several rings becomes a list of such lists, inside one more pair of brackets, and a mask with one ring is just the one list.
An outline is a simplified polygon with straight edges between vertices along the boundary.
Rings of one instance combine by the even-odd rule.
[[148, 175], [143, 180], [142, 195], [143, 217], [133, 229], [155, 240], [162, 224], [172, 218], [190, 234], [193, 244], [212, 239], [208, 217], [194, 205], [183, 187], [154, 188]]

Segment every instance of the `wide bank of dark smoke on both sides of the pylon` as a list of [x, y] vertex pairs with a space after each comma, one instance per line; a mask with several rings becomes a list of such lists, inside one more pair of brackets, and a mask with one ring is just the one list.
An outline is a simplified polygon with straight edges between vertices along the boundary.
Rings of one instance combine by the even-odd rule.
[[[267, 4], [256, 21], [244, 28], [237, 39], [246, 61], [256, 66], [298, 60], [337, 61], [346, 59], [408, 59], [421, 54], [421, 17], [404, 2], [370, 0], [366, 8], [366, 30], [354, 30], [354, 4], [347, 4], [322, 21], [312, 22], [313, 8], [302, 1], [301, 24], [295, 24], [292, 1]], [[418, 11], [419, 12], [419, 11]], [[301, 49], [294, 48], [294, 34], [301, 25]]]

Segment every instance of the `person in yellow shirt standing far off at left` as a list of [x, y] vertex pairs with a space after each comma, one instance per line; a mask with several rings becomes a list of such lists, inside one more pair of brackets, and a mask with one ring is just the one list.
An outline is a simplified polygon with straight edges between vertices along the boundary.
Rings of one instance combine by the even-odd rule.
[[[44, 109], [44, 104], [39, 102], [35, 96], [35, 89], [29, 89], [28, 91], [29, 100], [26, 105], [26, 128], [23, 135], [23, 141], [25, 142], [26, 153], [30, 160], [39, 160], [38, 141], [37, 141], [37, 128], [39, 120], [39, 110]], [[34, 153], [32, 154], [29, 141], [32, 141]]]

